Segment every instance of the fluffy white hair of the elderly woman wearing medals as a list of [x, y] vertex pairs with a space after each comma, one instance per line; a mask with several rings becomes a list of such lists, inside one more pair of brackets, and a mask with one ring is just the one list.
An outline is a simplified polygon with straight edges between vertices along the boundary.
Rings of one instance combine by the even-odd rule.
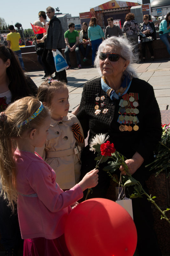
[[94, 61], [94, 66], [98, 68], [99, 74], [102, 75], [100, 70], [100, 59], [99, 59], [99, 53], [103, 52], [103, 49], [107, 46], [110, 46], [116, 50], [119, 48], [121, 55], [126, 59], [129, 60], [129, 65], [126, 67], [126, 70], [123, 72], [124, 75], [127, 75], [130, 79], [133, 77], [138, 77], [135, 69], [133, 68], [133, 63], [138, 60], [138, 56], [135, 56], [133, 53], [134, 45], [130, 43], [125, 37], [123, 36], [111, 36], [107, 39], [105, 39], [98, 48], [98, 51], [96, 53], [96, 58]]

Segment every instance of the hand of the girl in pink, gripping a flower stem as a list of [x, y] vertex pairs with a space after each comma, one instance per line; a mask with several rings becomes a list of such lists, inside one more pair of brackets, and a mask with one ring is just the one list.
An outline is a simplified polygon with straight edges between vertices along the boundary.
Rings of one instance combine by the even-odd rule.
[[87, 173], [83, 179], [78, 183], [78, 185], [81, 187], [82, 191], [93, 188], [98, 184], [98, 173], [99, 170], [92, 170], [89, 173]]

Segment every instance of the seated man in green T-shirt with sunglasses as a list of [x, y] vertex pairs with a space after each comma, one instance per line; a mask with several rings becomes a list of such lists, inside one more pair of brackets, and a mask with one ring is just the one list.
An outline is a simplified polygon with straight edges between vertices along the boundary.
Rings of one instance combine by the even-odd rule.
[[77, 65], [78, 68], [81, 68], [81, 60], [80, 60], [80, 51], [79, 51], [79, 35], [77, 30], [75, 30], [75, 25], [74, 23], [70, 23], [68, 25], [69, 30], [67, 30], [64, 34], [65, 36], [65, 43], [66, 43], [66, 48], [65, 48], [65, 59], [67, 61], [68, 67], [66, 69], [71, 68], [71, 62], [70, 62], [70, 57], [69, 53], [71, 51], [76, 51], [76, 58], [77, 58]]

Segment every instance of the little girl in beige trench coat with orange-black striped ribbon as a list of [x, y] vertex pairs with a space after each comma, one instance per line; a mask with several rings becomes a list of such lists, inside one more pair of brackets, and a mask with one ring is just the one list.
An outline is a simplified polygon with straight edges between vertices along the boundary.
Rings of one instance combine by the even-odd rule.
[[55, 170], [60, 188], [70, 189], [80, 178], [83, 130], [77, 117], [68, 113], [65, 83], [50, 78], [39, 86], [37, 98], [51, 110], [51, 124], [44, 147], [36, 148], [36, 152]]

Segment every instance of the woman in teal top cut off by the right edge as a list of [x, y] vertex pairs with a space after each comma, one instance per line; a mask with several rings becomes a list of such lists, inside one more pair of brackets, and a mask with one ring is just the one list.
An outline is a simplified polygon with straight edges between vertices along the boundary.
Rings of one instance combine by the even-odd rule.
[[162, 40], [163, 43], [165, 43], [165, 45], [167, 46], [167, 51], [170, 54], [170, 43], [168, 41], [168, 38], [170, 38], [169, 33], [170, 33], [170, 12], [168, 12], [166, 18], [160, 22], [160, 30], [159, 30], [160, 39]]

